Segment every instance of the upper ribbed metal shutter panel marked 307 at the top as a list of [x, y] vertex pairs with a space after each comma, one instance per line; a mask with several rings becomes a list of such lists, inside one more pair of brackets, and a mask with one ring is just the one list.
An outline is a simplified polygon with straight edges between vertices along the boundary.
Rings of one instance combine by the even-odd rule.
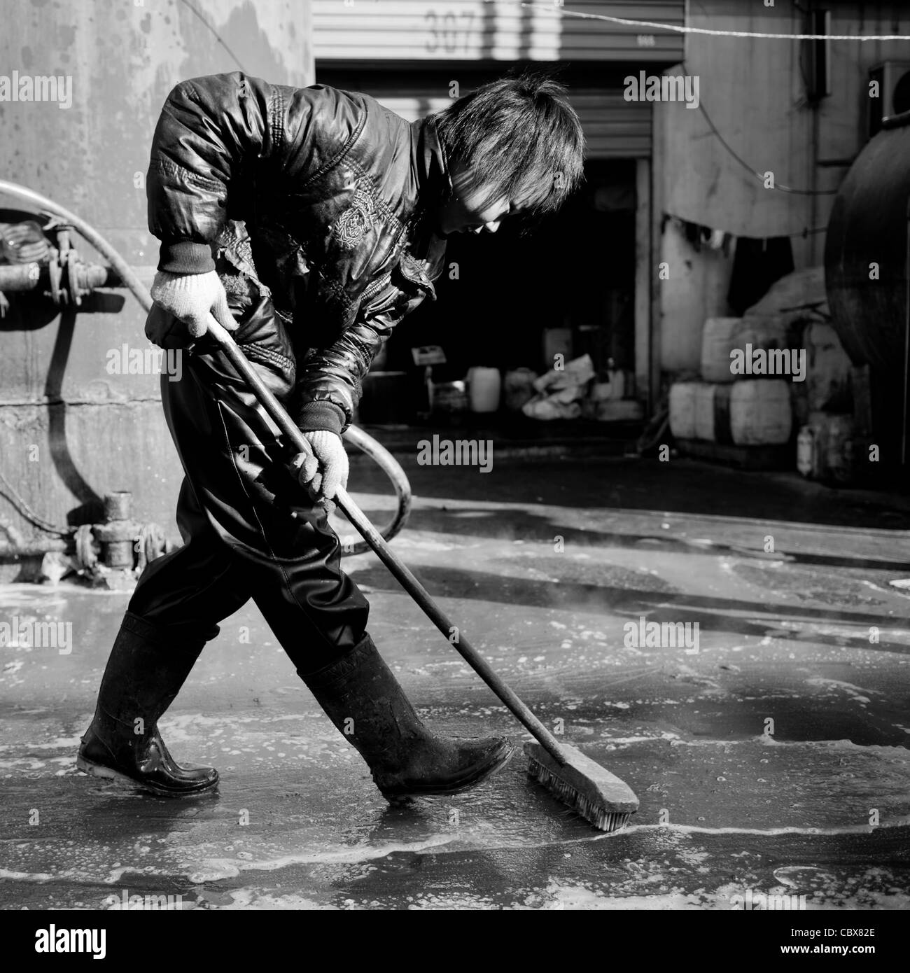
[[576, 18], [572, 12], [682, 25], [684, 0], [313, 0], [320, 61], [576, 60], [675, 64], [683, 35]]

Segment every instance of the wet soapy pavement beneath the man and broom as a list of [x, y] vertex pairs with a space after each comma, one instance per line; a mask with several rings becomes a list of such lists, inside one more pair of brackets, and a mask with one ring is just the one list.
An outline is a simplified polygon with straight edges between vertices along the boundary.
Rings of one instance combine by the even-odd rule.
[[[905, 501], [683, 460], [408, 472], [395, 549], [545, 723], [632, 785], [630, 826], [593, 830], [520, 753], [477, 790], [390, 807], [252, 604], [161, 721], [218, 793], [87, 777], [75, 749], [128, 595], [7, 585], [0, 622], [72, 623], [72, 651], [0, 649], [0, 907], [910, 905]], [[382, 520], [374, 471], [351, 489]], [[529, 739], [376, 558], [346, 568], [434, 728]], [[697, 641], [640, 644], [653, 622]]]

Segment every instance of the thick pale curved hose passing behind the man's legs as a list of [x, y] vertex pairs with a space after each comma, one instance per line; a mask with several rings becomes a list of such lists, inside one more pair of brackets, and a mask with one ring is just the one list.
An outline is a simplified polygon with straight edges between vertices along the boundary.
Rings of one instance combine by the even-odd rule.
[[[71, 226], [77, 233], [85, 237], [91, 243], [91, 246], [110, 263], [120, 278], [120, 282], [132, 292], [133, 297], [139, 302], [143, 310], [148, 313], [152, 309], [152, 295], [149, 294], [148, 289], [138, 276], [136, 276], [135, 272], [127, 264], [127, 261], [124, 260], [101, 234], [91, 227], [90, 224], [86, 223], [85, 220], [80, 219], [80, 217], [75, 213], [71, 213], [68, 209], [57, 205], [53, 199], [42, 196], [40, 193], [36, 193], [34, 190], [27, 189], [24, 186], [19, 186], [17, 183], [0, 179], [0, 193], [5, 193], [8, 196], [30, 202], [41, 213], [55, 216], [68, 226]], [[392, 519], [380, 529], [382, 537], [386, 541], [391, 540], [404, 527], [411, 514], [411, 484], [408, 482], [408, 477], [395, 457], [372, 436], [367, 435], [367, 433], [357, 426], [349, 426], [347, 428], [345, 440], [350, 445], [357, 447], [358, 450], [365, 452], [374, 460], [382, 468], [382, 472], [388, 477], [395, 490], [395, 497], [398, 501], [397, 509]], [[351, 533], [341, 537], [340, 540], [342, 553], [345, 555], [364, 554], [370, 550], [366, 541], [362, 540], [357, 534]]]

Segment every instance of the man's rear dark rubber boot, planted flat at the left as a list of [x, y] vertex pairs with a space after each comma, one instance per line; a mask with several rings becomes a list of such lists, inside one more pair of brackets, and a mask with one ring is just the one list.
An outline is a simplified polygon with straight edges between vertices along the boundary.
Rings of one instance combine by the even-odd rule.
[[175, 764], [157, 725], [206, 641], [174, 644], [172, 635], [127, 612], [101, 679], [94, 719], [82, 738], [79, 770], [173, 797], [200, 794], [218, 783], [211, 767]]

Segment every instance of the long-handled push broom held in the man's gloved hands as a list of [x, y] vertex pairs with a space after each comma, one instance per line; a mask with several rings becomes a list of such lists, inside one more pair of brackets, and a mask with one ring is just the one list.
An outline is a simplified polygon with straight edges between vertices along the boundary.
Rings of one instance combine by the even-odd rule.
[[[208, 331], [294, 448], [299, 452], [311, 454], [309, 443], [300, 429], [256, 374], [231, 333], [211, 314], [208, 315]], [[392, 553], [380, 532], [367, 520], [363, 511], [348, 496], [345, 489], [339, 488], [335, 495], [335, 502], [404, 590], [418, 603], [427, 618], [448, 639], [450, 633], [455, 631], [455, 626], [411, 570]], [[528, 706], [496, 675], [480, 653], [460, 634], [460, 630], [458, 631], [455, 648], [464, 661], [487, 683], [492, 692], [505, 703], [536, 739], [536, 742], [528, 741], [525, 744], [528, 774], [539, 780], [564, 804], [587, 818], [601, 831], [618, 831], [624, 827], [630, 815], [638, 810], [638, 799], [632, 788], [616, 775], [604, 770], [600, 764], [586, 757], [580, 750], [560, 743], [534, 716]]]

